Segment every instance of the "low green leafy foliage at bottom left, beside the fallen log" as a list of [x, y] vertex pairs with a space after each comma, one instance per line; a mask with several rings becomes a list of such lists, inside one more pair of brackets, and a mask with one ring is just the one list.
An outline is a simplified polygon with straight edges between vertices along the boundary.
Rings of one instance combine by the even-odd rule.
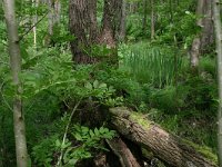
[[[60, 149], [64, 150], [62, 157], [63, 166], [74, 166], [79, 160], [91, 158], [92, 149], [104, 149], [101, 145], [102, 139], [111, 139], [114, 136], [113, 130], [100, 127], [89, 129], [88, 127], [75, 125], [70, 140], [62, 143], [59, 136], [51, 136], [43, 139], [33, 147], [32, 156], [38, 166], [49, 167], [52, 165], [54, 156], [59, 157]], [[75, 139], [75, 146], [73, 140]], [[72, 140], [72, 141], [71, 141]]]

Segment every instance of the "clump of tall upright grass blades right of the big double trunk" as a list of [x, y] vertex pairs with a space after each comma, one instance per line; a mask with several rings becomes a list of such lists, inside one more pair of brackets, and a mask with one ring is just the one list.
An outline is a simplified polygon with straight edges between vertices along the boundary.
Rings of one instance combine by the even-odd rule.
[[173, 49], [145, 42], [122, 46], [120, 67], [130, 71], [140, 82], [149, 82], [158, 88], [170, 86], [183, 66], [182, 58]]

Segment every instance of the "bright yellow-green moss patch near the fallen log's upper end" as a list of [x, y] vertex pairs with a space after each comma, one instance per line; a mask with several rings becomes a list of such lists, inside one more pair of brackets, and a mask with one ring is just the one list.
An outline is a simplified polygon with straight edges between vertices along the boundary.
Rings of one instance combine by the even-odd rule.
[[130, 115], [130, 119], [137, 121], [140, 126], [142, 126], [145, 129], [150, 129], [152, 121], [145, 119], [144, 115], [138, 114], [138, 112], [132, 112]]

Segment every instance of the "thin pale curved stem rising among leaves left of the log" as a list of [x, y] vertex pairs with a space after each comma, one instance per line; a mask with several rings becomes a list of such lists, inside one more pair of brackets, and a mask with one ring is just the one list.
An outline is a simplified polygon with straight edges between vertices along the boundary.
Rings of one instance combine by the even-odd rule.
[[[65, 127], [65, 130], [64, 130], [64, 135], [63, 135], [63, 139], [62, 139], [62, 145], [64, 145], [64, 143], [65, 143], [67, 134], [68, 134], [68, 130], [69, 130], [71, 120], [72, 120], [72, 117], [73, 117], [73, 115], [74, 115], [77, 108], [79, 107], [80, 102], [81, 102], [81, 99], [77, 102], [77, 105], [74, 106], [74, 108], [73, 108], [73, 110], [72, 110], [72, 112], [71, 112], [71, 115], [70, 115], [70, 117], [69, 117], [69, 121], [68, 121], [68, 124], [67, 124], [67, 127]], [[61, 145], [61, 146], [62, 146], [62, 145]], [[58, 160], [58, 163], [57, 163], [57, 167], [59, 167], [59, 166], [61, 165], [62, 157], [63, 157], [63, 151], [64, 151], [64, 149], [61, 148], [61, 154], [60, 154], [59, 160]]]

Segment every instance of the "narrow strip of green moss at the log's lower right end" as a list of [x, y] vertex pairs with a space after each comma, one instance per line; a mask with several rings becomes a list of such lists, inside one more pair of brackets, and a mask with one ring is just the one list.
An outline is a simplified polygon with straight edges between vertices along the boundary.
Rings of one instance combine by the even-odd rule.
[[183, 141], [193, 147], [198, 153], [203, 155], [205, 158], [210, 159], [214, 165], [218, 165], [218, 157], [212, 153], [212, 149], [205, 146], [199, 146], [192, 141], [183, 139]]

